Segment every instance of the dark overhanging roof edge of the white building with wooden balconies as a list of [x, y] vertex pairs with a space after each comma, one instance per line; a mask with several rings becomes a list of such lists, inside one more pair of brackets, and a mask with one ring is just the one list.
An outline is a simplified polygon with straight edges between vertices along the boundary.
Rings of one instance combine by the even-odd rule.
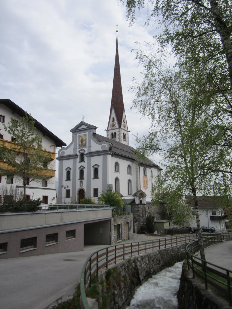
[[[0, 104], [4, 104], [6, 105], [8, 108], [10, 108], [12, 110], [13, 114], [17, 114], [20, 117], [24, 117], [25, 116], [25, 111], [19, 107], [17, 104], [15, 104], [14, 102], [12, 102], [10, 99], [0, 99]], [[62, 147], [62, 146], [66, 146], [65, 142], [63, 142], [61, 139], [59, 139], [55, 134], [53, 134], [51, 131], [49, 131], [47, 128], [45, 128], [45, 126], [41, 125], [41, 123], [39, 121], [37, 121], [35, 118], [32, 117], [32, 119], [35, 121], [35, 127], [43, 133], [43, 135], [46, 135], [47, 137], [49, 137], [50, 139], [52, 139], [55, 144], [56, 147]]]

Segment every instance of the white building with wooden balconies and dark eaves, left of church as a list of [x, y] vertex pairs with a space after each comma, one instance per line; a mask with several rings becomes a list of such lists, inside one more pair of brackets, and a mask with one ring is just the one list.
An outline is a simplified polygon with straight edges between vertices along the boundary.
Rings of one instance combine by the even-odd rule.
[[[9, 99], [0, 99], [0, 143], [4, 142], [4, 145], [11, 149], [11, 145], [14, 143], [14, 137], [10, 136], [3, 127], [3, 123], [7, 126], [10, 122], [10, 118], [15, 118], [19, 121], [21, 117], [25, 116], [25, 111], [12, 102]], [[66, 144], [55, 136], [52, 132], [46, 129], [36, 119], [35, 121], [36, 131], [41, 133], [42, 136], [42, 147], [46, 152], [52, 156], [52, 161], [46, 167], [46, 175], [49, 176], [47, 180], [28, 180], [26, 186], [26, 197], [29, 199], [41, 198], [43, 204], [56, 202], [56, 189], [55, 189], [55, 155], [56, 147], [62, 147]], [[7, 164], [0, 161], [0, 169], [6, 170]], [[15, 192], [23, 191], [22, 179], [18, 175], [11, 176], [0, 176], [0, 203], [6, 200], [8, 197], [15, 195]]]

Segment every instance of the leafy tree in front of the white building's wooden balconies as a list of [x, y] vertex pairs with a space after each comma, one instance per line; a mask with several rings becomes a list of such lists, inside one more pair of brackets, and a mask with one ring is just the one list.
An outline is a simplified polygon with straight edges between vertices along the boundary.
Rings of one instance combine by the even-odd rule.
[[42, 135], [36, 133], [35, 121], [27, 113], [16, 123], [11, 117], [10, 122], [5, 125], [7, 133], [13, 136], [16, 141], [12, 144], [11, 149], [6, 149], [1, 144], [0, 156], [6, 161], [9, 169], [1, 170], [2, 175], [18, 175], [22, 179], [24, 188], [24, 197], [27, 180], [29, 182], [37, 179], [47, 179], [46, 170], [43, 165], [47, 165], [51, 161], [51, 154], [46, 153], [41, 146]]

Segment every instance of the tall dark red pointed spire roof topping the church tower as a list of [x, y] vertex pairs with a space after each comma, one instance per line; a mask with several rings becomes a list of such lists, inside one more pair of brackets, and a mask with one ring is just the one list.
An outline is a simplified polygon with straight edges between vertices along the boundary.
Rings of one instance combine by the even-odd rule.
[[116, 38], [114, 80], [113, 80], [110, 114], [111, 114], [113, 107], [114, 107], [115, 114], [116, 114], [116, 117], [117, 117], [117, 120], [118, 120], [118, 125], [121, 126], [122, 115], [123, 115], [123, 110], [124, 110], [124, 103], [123, 103], [123, 97], [122, 97], [122, 82], [121, 82], [119, 56], [118, 56], [118, 30], [117, 30], [117, 38]]

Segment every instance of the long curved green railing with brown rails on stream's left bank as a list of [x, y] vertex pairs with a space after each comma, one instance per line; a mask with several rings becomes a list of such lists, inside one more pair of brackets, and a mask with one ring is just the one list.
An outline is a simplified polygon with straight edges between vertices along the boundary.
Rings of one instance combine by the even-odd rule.
[[133, 243], [123, 243], [106, 247], [92, 253], [84, 263], [81, 271], [81, 308], [89, 309], [86, 292], [91, 286], [92, 277], [96, 275], [98, 280], [98, 272], [100, 269], [104, 267], [108, 269], [110, 264], [116, 264], [117, 261], [125, 260], [126, 258], [135, 255], [153, 252], [154, 250], [160, 250], [167, 247], [174, 247], [182, 243], [189, 243], [195, 238], [195, 234], [189, 234]]

